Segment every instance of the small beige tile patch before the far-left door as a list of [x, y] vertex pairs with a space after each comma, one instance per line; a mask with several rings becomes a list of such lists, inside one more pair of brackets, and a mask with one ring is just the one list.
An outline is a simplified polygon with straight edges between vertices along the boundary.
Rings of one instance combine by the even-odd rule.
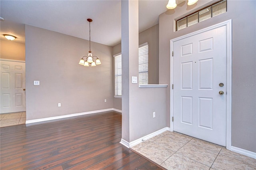
[[26, 112], [0, 114], [0, 127], [8, 127], [26, 123]]

